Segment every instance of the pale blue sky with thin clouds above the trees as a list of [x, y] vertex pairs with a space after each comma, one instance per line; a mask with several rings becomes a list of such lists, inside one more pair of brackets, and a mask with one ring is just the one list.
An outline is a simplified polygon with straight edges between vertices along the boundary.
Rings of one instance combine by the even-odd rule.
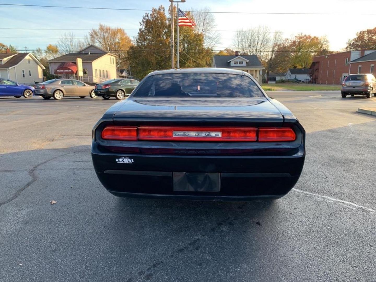
[[[155, 1], [115, 1], [115, 0], [16, 0], [9, 2], [0, 0], [0, 3], [30, 4], [30, 5], [58, 5], [58, 6], [88, 6], [102, 8], [130, 8], [151, 9], [164, 5], [168, 0]], [[372, 0], [315, 0], [280, 1], [280, 0], [186, 0], [181, 4], [183, 10], [209, 7], [212, 11], [247, 11], [247, 12], [296, 12], [296, 13], [346, 13], [345, 15], [250, 15], [250, 14], [214, 14], [218, 30], [236, 30], [240, 28], [267, 25], [271, 32], [281, 30], [284, 37], [289, 38], [299, 32], [323, 36], [330, 41], [332, 50], [346, 47], [346, 41], [355, 36], [362, 29], [376, 26], [376, 15], [358, 15], [354, 18], [353, 9], [361, 7], [359, 11], [372, 13], [364, 7], [373, 4]], [[87, 29], [74, 30], [74, 36], [83, 38], [91, 28], [99, 23], [109, 26], [122, 27], [133, 38], [138, 32], [139, 22], [143, 11], [109, 11], [89, 9], [39, 8], [24, 6], [1, 6], [0, 27], [22, 28], [20, 30], [0, 29], [0, 42], [12, 44], [19, 49], [27, 46], [30, 50], [54, 44], [58, 37], [68, 32], [64, 30], [23, 30], [23, 28], [50, 28], [50, 29]], [[374, 13], [376, 14], [376, 12]], [[230, 47], [234, 32], [221, 31], [221, 44], [216, 49]]]

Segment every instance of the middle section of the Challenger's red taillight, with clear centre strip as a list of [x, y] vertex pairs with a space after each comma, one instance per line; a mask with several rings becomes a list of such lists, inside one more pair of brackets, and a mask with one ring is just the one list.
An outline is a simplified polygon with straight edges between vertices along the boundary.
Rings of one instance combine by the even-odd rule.
[[256, 141], [256, 127], [140, 126], [139, 140], [159, 141]]

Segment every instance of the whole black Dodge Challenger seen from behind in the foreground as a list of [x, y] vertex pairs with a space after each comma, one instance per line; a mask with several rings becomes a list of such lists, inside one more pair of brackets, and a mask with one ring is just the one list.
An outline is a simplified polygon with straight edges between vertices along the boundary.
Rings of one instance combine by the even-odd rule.
[[243, 71], [154, 71], [94, 126], [91, 154], [115, 196], [276, 199], [302, 172], [305, 130]]

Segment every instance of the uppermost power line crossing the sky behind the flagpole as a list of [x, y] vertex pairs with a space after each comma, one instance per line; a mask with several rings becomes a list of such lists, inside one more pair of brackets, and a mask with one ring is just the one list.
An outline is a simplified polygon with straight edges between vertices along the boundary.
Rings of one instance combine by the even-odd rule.
[[[93, 10], [117, 10], [117, 11], [144, 11], [151, 12], [150, 9], [126, 9], [126, 8], [102, 8], [102, 7], [79, 7], [79, 6], [52, 6], [52, 5], [29, 5], [29, 4], [0, 4], [4, 6], [27, 6], [42, 8], [64, 8], [64, 9], [93, 9]], [[260, 14], [260, 15], [346, 15], [345, 13], [293, 13], [293, 12], [220, 12], [220, 11], [187, 11], [193, 13], [212, 13], [212, 14]], [[371, 15], [376, 14], [361, 14]]]

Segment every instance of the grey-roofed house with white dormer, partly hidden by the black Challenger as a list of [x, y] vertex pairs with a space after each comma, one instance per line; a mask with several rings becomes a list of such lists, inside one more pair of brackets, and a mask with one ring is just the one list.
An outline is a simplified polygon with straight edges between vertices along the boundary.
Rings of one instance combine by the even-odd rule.
[[235, 52], [235, 56], [220, 56], [214, 55], [213, 68], [234, 68], [237, 70], [245, 71], [252, 75], [258, 82], [262, 83], [262, 70], [265, 68], [261, 65], [261, 62], [256, 55], [238, 55]]

